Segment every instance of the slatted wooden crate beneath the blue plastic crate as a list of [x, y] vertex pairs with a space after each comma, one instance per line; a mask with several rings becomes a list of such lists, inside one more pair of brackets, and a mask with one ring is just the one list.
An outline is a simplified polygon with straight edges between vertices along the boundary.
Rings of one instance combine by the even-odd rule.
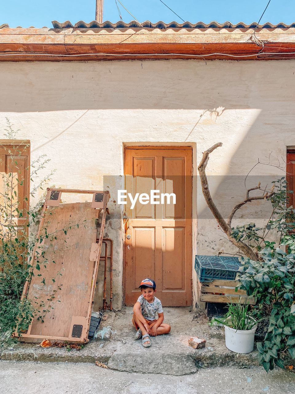
[[253, 297], [248, 297], [245, 290], [238, 290], [235, 288], [237, 282], [214, 280], [212, 282], [199, 282], [200, 301], [205, 302], [239, 302], [255, 305], [256, 300]]

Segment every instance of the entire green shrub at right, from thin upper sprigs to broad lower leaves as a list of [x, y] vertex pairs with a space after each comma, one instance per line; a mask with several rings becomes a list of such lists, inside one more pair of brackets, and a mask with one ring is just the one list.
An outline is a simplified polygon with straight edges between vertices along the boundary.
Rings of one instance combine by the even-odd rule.
[[[266, 371], [274, 364], [284, 368], [287, 353], [295, 359], [295, 216], [293, 207], [287, 207], [287, 182], [284, 178], [275, 184], [275, 193], [270, 198], [273, 206], [271, 218], [263, 228], [254, 223], [232, 229], [236, 239], [247, 239], [259, 253], [259, 261], [240, 258], [238, 286], [248, 296], [256, 297], [257, 316], [269, 319], [263, 343], [258, 343], [258, 359]], [[266, 239], [270, 230], [278, 234], [278, 242]], [[278, 245], [278, 247], [276, 247]], [[287, 246], [287, 253], [279, 248]]]

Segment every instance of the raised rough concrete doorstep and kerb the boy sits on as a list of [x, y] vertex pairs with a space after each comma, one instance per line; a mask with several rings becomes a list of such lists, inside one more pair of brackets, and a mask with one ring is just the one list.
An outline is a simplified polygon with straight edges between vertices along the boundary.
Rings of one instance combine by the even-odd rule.
[[[141, 340], [134, 340], [131, 323], [132, 309], [106, 312], [98, 339], [82, 350], [36, 347], [18, 343], [2, 351], [0, 359], [13, 361], [92, 362], [100, 361], [110, 369], [122, 372], [142, 372], [162, 375], [195, 374], [200, 367], [257, 366], [256, 351], [247, 355], [233, 353], [225, 347], [222, 329], [208, 327], [204, 314], [188, 308], [164, 308], [164, 322], [170, 323], [171, 333], [151, 337], [151, 347], [143, 348]], [[205, 349], [188, 346], [192, 336], [206, 339]]]

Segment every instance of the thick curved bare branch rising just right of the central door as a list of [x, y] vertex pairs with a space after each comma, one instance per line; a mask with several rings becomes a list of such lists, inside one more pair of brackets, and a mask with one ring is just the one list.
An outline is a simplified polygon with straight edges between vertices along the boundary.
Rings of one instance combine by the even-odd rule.
[[214, 202], [212, 200], [212, 197], [211, 197], [211, 194], [209, 191], [208, 179], [206, 177], [206, 166], [208, 164], [209, 154], [212, 153], [216, 148], [221, 147], [221, 146], [222, 146], [222, 143], [219, 142], [219, 143], [213, 145], [211, 148], [207, 149], [203, 153], [202, 160], [198, 166], [203, 195], [205, 197], [208, 207], [210, 208], [210, 211], [212, 212], [213, 216], [215, 217], [215, 219], [216, 219], [217, 223], [219, 224], [219, 226], [221, 227], [221, 229], [227, 235], [227, 238], [229, 238], [230, 242], [233, 245], [235, 245], [236, 247], [238, 247], [239, 249], [241, 249], [242, 252], [244, 253], [244, 255], [251, 258], [251, 260], [258, 261], [259, 260], [258, 255], [256, 255], [256, 253], [254, 253], [254, 251], [251, 249], [251, 247], [249, 247], [248, 245], [246, 245], [242, 241], [237, 241], [234, 238], [232, 238], [232, 236], [230, 235], [232, 232], [230, 225], [228, 223], [226, 223], [225, 219], [223, 218], [223, 216], [221, 215], [221, 213], [217, 209], [216, 205], [214, 204]]

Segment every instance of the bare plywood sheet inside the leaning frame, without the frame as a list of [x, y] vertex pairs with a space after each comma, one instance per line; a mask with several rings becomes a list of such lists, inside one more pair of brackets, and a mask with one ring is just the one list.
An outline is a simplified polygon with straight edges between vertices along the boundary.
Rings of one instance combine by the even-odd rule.
[[44, 239], [45, 258], [39, 257], [40, 270], [33, 272], [27, 298], [37, 306], [37, 314], [28, 334], [68, 338], [72, 317], [87, 316], [94, 266], [89, 254], [96, 240], [97, 216], [91, 203], [61, 204], [46, 211], [43, 231], [58, 231], [57, 240]]

